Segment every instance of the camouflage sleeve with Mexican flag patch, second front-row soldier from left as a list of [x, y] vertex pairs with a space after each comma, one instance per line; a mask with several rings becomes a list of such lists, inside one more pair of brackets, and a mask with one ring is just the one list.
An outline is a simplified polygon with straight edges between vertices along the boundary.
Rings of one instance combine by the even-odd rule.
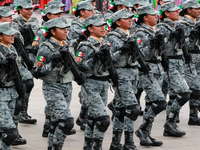
[[33, 70], [41, 74], [47, 74], [52, 70], [52, 52], [47, 46], [42, 46], [35, 58]]

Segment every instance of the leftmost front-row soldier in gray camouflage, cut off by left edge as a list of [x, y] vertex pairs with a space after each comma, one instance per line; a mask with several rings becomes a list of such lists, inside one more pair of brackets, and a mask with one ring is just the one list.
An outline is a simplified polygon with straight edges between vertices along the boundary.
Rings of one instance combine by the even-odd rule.
[[[18, 115], [14, 115], [15, 104], [18, 98], [18, 93], [16, 91], [14, 79], [7, 81], [3, 79], [6, 74], [8, 74], [9, 59], [16, 59], [20, 74], [23, 74], [21, 70], [22, 64], [21, 59], [18, 57], [15, 48], [11, 45], [14, 43], [14, 35], [17, 31], [12, 27], [11, 23], [5, 22], [0, 23], [0, 149], [1, 150], [11, 150], [11, 145], [19, 137], [17, 130]], [[7, 39], [4, 41], [4, 39]], [[9, 44], [5, 44], [9, 43]], [[13, 55], [14, 54], [14, 55]], [[12, 57], [14, 56], [14, 57]], [[7, 71], [6, 71], [7, 70]], [[25, 92], [25, 91], [23, 91]]]

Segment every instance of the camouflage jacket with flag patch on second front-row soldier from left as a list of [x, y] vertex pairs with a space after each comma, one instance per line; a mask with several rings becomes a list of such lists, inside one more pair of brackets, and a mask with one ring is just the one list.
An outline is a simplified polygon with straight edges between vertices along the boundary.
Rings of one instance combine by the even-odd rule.
[[[67, 43], [67, 45], [69, 45], [69, 43]], [[61, 45], [59, 45], [52, 38], [46, 40], [40, 45], [40, 49], [38, 50], [33, 70], [34, 72], [41, 72], [45, 75], [44, 77], [40, 78], [43, 81], [68, 83], [74, 80], [74, 76], [71, 70], [67, 74], [61, 73], [61, 68], [63, 67], [63, 64], [61, 62], [58, 63], [55, 68], [52, 68], [52, 58], [54, 55], [60, 54], [60, 48]], [[74, 58], [74, 52], [70, 49], [69, 51]], [[38, 64], [41, 64], [41, 66]]]

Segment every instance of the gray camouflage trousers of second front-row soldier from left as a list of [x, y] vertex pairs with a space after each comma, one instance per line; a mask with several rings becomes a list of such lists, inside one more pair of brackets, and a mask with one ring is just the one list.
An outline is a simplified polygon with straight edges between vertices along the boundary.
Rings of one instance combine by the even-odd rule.
[[62, 120], [72, 117], [68, 104], [71, 101], [72, 83], [60, 84], [44, 81], [42, 89], [51, 116], [48, 147], [58, 145], [61, 149], [67, 137], [60, 128], [63, 126]]

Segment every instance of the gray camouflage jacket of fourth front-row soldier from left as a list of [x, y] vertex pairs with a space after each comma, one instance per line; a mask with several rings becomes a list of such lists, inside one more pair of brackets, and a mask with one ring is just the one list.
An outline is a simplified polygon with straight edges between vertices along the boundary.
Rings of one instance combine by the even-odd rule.
[[137, 62], [132, 63], [130, 54], [120, 54], [120, 48], [126, 44], [128, 35], [116, 28], [114, 31], [109, 32], [106, 39], [111, 43], [111, 55], [116, 68], [119, 79], [121, 80], [135, 80], [135, 74], [138, 73], [138, 69], [133, 69], [128, 66], [137, 66]]

